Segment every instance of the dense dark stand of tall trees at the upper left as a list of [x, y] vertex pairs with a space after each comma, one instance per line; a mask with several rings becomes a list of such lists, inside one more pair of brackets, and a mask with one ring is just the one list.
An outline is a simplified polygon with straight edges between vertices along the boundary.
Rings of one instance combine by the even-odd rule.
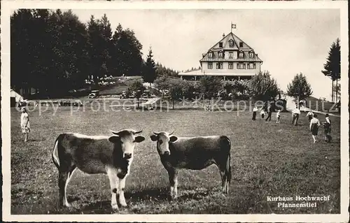
[[106, 15], [81, 22], [71, 10], [21, 9], [10, 18], [11, 87], [43, 96], [66, 94], [84, 80], [141, 75], [142, 45]]

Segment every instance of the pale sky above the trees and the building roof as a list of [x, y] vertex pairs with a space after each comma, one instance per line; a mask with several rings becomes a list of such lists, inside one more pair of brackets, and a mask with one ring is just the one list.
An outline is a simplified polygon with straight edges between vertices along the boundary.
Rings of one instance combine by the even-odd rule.
[[313, 96], [330, 99], [331, 81], [321, 71], [330, 45], [340, 38], [338, 9], [134, 9], [73, 10], [82, 22], [106, 13], [114, 31], [120, 23], [134, 30], [144, 57], [151, 47], [155, 62], [182, 71], [200, 66], [207, 52], [232, 32], [262, 59], [286, 91], [297, 73], [306, 75]]

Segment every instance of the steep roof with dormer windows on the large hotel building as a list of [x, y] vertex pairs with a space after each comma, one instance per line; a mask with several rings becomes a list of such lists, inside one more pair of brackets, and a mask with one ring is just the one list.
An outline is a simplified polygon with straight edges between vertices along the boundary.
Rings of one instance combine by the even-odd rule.
[[[233, 41], [233, 45], [232, 47], [230, 47], [230, 43], [229, 41], [232, 40]], [[221, 48], [219, 43], [223, 43], [223, 47]], [[239, 43], [242, 43], [242, 47], [239, 48]], [[212, 51], [212, 52], [218, 52], [220, 50], [223, 51], [228, 51], [228, 50], [242, 50], [244, 52], [251, 52], [253, 50], [253, 48], [251, 48], [248, 44], [246, 44], [244, 41], [242, 41], [238, 36], [236, 36], [235, 34], [233, 34], [232, 32], [230, 32], [230, 34], [224, 36], [223, 38], [221, 38], [220, 41], [218, 41], [218, 43], [216, 43], [214, 46], [212, 46], [208, 52]], [[208, 58], [208, 52], [205, 53], [204, 57], [202, 59], [200, 59], [200, 62], [204, 62], [204, 61], [209, 61], [209, 62], [213, 62], [213, 61], [218, 61], [218, 58]], [[230, 59], [230, 61], [251, 61], [251, 62], [262, 62], [262, 60], [258, 57], [257, 54], [255, 54], [254, 52], [254, 58], [244, 58], [244, 59]], [[222, 61], [228, 61], [228, 59], [222, 59]]]

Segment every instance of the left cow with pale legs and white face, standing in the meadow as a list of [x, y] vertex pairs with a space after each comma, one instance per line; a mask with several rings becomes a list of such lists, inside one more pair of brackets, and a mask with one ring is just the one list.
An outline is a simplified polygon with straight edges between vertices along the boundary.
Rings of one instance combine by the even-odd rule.
[[124, 197], [125, 178], [130, 173], [135, 143], [141, 143], [145, 138], [135, 136], [141, 131], [132, 129], [112, 133], [113, 136], [66, 133], [57, 137], [52, 160], [59, 171], [59, 206], [69, 207], [66, 186], [76, 168], [89, 174], [107, 174], [111, 185], [112, 208], [118, 210], [117, 193], [120, 205], [127, 206]]

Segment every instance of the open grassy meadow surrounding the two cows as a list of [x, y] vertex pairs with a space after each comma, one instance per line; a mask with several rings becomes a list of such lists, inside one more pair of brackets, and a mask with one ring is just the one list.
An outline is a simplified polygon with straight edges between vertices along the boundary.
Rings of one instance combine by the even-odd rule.
[[[94, 112], [85, 109], [71, 115], [59, 107], [39, 115], [29, 113], [31, 134], [24, 143], [20, 113], [11, 108], [11, 213], [99, 214], [113, 213], [111, 190], [106, 175], [76, 171], [67, 187], [73, 208], [57, 208], [58, 172], [51, 153], [56, 137], [63, 132], [109, 135], [109, 129], [144, 129], [146, 141], [135, 148], [131, 173], [125, 186], [128, 207], [124, 214], [251, 214], [251, 213], [339, 213], [340, 119], [332, 121], [333, 143], [312, 143], [307, 117], [291, 124], [290, 113], [282, 113], [276, 124], [260, 117], [254, 122], [248, 112], [205, 112], [204, 110]], [[320, 115], [320, 121], [324, 121]], [[167, 171], [158, 157], [152, 131], [172, 131], [176, 136], [226, 135], [232, 141], [230, 194], [221, 193], [216, 166], [202, 171], [179, 171], [179, 199], [169, 201]], [[277, 208], [267, 196], [328, 196], [316, 208]]]

